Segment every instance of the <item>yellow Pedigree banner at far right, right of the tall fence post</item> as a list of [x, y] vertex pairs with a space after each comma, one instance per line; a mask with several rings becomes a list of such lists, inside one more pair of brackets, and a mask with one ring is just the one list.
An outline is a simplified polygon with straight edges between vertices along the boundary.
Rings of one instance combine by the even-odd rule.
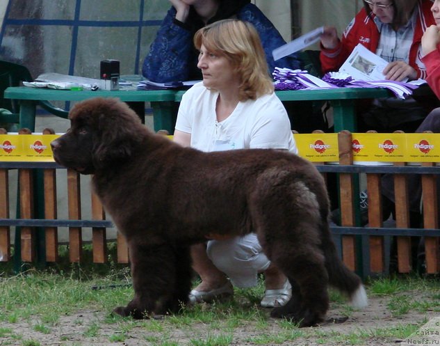
[[352, 134], [354, 162], [440, 162], [439, 134]]

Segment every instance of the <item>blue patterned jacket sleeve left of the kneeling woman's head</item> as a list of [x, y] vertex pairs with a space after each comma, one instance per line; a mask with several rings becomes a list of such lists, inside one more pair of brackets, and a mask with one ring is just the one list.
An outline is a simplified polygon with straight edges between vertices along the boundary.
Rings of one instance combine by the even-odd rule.
[[176, 9], [168, 10], [161, 28], [149, 48], [142, 66], [142, 74], [151, 81], [188, 80], [193, 38], [189, 30], [176, 19]]

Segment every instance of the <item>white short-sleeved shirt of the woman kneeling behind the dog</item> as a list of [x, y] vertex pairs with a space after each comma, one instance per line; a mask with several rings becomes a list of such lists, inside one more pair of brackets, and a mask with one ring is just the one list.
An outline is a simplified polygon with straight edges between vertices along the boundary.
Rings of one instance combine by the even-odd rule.
[[275, 93], [238, 102], [221, 122], [215, 114], [218, 95], [200, 82], [182, 97], [176, 129], [191, 134], [191, 147], [205, 152], [270, 148], [298, 153], [286, 109]]

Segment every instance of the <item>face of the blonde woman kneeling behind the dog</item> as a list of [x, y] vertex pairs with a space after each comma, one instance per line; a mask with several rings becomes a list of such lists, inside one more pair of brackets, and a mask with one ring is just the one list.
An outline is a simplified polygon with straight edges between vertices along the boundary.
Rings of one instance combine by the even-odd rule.
[[238, 75], [234, 72], [231, 61], [223, 55], [209, 52], [202, 44], [197, 67], [202, 70], [203, 84], [206, 88], [221, 91], [238, 85]]

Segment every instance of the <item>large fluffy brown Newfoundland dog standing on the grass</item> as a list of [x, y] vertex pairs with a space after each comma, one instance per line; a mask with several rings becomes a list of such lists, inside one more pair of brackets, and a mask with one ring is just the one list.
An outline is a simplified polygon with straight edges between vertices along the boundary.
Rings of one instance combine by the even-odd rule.
[[116, 99], [78, 103], [70, 120], [69, 131], [51, 143], [54, 158], [93, 175], [129, 246], [135, 294], [116, 313], [176, 313], [190, 292], [190, 245], [209, 234], [250, 232], [293, 286], [293, 297], [273, 317], [317, 324], [329, 307], [328, 285], [366, 305], [361, 280], [336, 253], [325, 182], [306, 160], [279, 150], [182, 148]]

